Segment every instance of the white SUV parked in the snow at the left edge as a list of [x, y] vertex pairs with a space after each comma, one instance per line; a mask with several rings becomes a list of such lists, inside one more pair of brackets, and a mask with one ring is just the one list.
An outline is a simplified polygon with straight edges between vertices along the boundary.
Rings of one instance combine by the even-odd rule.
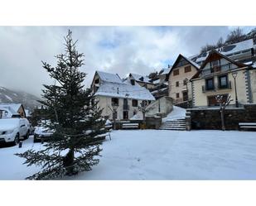
[[30, 123], [27, 118], [0, 119], [0, 143], [12, 142], [17, 145], [20, 138], [27, 139], [30, 133]]

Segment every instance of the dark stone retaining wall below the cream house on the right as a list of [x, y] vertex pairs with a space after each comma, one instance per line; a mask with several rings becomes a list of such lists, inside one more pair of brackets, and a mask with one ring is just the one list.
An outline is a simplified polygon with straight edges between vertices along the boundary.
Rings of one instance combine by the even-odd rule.
[[[186, 111], [189, 114], [186, 122], [191, 129], [221, 129], [219, 108], [191, 108]], [[238, 130], [239, 122], [256, 122], [256, 104], [225, 109], [226, 130]]]

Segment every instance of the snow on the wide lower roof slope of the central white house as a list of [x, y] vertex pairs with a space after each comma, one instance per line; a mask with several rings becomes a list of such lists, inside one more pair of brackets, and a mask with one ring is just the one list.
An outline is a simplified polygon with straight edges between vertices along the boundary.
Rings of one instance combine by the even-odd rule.
[[106, 96], [114, 98], [133, 98], [141, 100], [155, 100], [146, 88], [138, 84], [103, 82], [95, 96]]

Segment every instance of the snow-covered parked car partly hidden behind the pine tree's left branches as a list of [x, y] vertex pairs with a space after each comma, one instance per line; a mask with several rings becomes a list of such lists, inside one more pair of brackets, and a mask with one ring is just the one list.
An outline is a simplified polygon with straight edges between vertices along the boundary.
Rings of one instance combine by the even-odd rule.
[[47, 141], [47, 139], [49, 139], [49, 137], [51, 137], [52, 134], [54, 133], [54, 130], [45, 126], [46, 122], [47, 122], [47, 120], [42, 121], [38, 124], [38, 126], [35, 127], [34, 142]]

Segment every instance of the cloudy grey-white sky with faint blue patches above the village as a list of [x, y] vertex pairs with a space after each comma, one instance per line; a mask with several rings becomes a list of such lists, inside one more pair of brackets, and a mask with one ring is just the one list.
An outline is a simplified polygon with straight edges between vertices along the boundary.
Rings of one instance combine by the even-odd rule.
[[[196, 55], [235, 26], [0, 26], [0, 86], [40, 96], [51, 84], [41, 60], [55, 66], [68, 29], [85, 54], [88, 87], [95, 70], [149, 74], [171, 65], [178, 54]], [[244, 32], [252, 27], [243, 26]]]

